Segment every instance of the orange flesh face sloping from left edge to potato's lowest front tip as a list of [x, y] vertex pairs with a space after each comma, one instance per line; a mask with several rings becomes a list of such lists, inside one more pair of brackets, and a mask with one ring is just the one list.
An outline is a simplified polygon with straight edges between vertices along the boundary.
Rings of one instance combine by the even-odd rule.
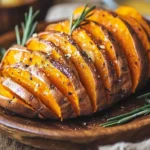
[[60, 107], [56, 103], [49, 87], [41, 82], [36, 77], [32, 76], [28, 71], [24, 71], [15, 67], [6, 67], [1, 70], [4, 77], [10, 77], [18, 84], [22, 85], [30, 92], [32, 92], [39, 99], [54, 112], [56, 116], [61, 118]]

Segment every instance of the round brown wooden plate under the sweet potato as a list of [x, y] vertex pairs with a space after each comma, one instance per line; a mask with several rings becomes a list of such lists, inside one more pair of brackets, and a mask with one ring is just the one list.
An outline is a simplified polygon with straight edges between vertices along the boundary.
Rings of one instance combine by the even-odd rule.
[[[41, 23], [38, 31], [42, 31], [45, 26], [45, 23]], [[14, 41], [14, 32], [8, 33], [0, 37], [0, 46], [9, 47]], [[12, 115], [1, 108], [0, 130], [21, 143], [52, 150], [96, 149], [99, 145], [119, 141], [137, 142], [150, 137], [150, 116], [139, 117], [127, 124], [109, 128], [100, 127], [100, 124], [107, 118], [142, 106], [144, 100], [138, 100], [136, 97], [149, 90], [147, 86], [143, 91], [93, 116], [63, 122], [30, 120]]]

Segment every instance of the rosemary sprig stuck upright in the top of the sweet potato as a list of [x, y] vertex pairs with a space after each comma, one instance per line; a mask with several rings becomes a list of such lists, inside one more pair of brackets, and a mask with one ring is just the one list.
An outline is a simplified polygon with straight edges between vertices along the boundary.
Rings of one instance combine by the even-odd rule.
[[78, 28], [79, 26], [82, 26], [84, 24], [87, 23], [87, 19], [92, 16], [93, 14], [91, 13], [92, 10], [94, 10], [96, 8], [96, 6], [91, 6], [90, 8], [88, 8], [88, 4], [86, 4], [84, 6], [84, 10], [82, 11], [81, 15], [77, 18], [74, 19], [74, 15], [71, 16], [70, 19], [70, 35], [72, 34], [72, 32]]

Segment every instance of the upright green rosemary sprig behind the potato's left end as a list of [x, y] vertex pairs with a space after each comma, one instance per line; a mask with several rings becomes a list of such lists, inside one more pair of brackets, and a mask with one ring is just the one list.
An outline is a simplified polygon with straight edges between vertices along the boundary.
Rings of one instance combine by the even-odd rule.
[[22, 39], [19, 33], [19, 26], [15, 26], [17, 44], [25, 45], [26, 41], [32, 36], [38, 24], [38, 22], [34, 22], [34, 19], [38, 14], [39, 10], [33, 13], [32, 7], [29, 8], [29, 13], [25, 13], [25, 22], [21, 23], [21, 27], [23, 30]]

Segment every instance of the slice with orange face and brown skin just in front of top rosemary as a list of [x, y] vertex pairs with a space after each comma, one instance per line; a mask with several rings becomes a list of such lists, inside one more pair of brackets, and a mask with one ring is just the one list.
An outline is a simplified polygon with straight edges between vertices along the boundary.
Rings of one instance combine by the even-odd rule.
[[39, 34], [39, 37], [53, 42], [61, 48], [64, 55], [69, 56], [78, 71], [82, 84], [89, 94], [94, 112], [105, 107], [104, 87], [100, 79], [98, 79], [99, 76], [96, 69], [91, 59], [88, 59], [86, 53], [81, 51], [73, 39], [67, 34], [55, 31], [43, 32]]

